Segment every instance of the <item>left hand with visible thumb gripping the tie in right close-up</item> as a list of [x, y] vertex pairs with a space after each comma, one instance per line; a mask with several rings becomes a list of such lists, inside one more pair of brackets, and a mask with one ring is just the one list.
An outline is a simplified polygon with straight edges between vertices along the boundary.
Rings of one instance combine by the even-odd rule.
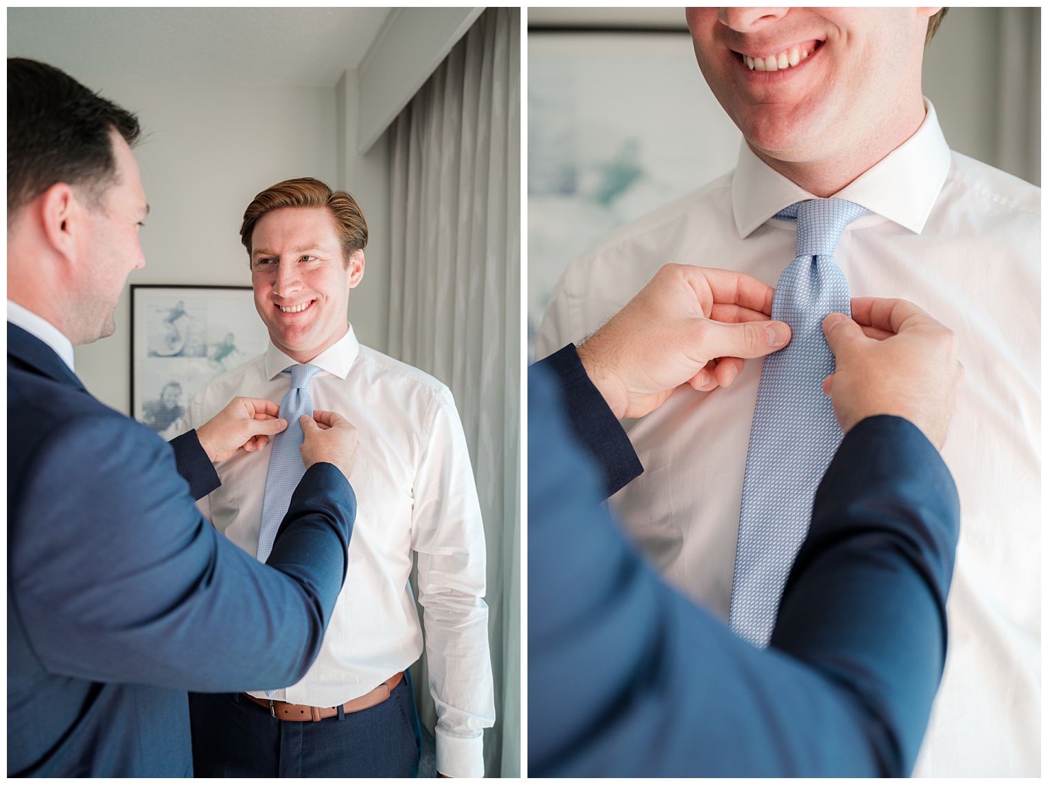
[[685, 381], [727, 387], [744, 357], [790, 339], [768, 321], [774, 289], [741, 272], [667, 264], [578, 347], [578, 358], [616, 417], [640, 417]]

